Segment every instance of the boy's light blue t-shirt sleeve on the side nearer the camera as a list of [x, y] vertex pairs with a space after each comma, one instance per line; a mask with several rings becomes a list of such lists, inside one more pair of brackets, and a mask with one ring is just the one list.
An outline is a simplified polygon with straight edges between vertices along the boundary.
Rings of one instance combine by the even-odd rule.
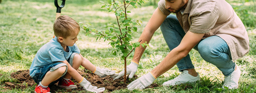
[[66, 60], [63, 54], [63, 50], [58, 47], [49, 49], [48, 55], [50, 56], [52, 62]]

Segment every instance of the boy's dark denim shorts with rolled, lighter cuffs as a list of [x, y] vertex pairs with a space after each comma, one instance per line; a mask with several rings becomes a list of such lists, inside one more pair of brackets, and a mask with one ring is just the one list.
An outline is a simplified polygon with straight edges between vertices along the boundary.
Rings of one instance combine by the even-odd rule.
[[[73, 58], [74, 58], [75, 54], [78, 54], [78, 53], [72, 53], [71, 56], [69, 57], [69, 59], [67, 60], [67, 62], [69, 62], [69, 64], [71, 66], [73, 65]], [[67, 66], [67, 65], [62, 62], [55, 62], [53, 64], [45, 65], [37, 70], [37, 72], [35, 73], [34, 77], [32, 77], [32, 79], [35, 81], [35, 83], [39, 84], [39, 82], [42, 81], [42, 79], [45, 77], [45, 74], [48, 71], [54, 71], [62, 66]], [[59, 80], [61, 80], [65, 76], [66, 73], [67, 73], [67, 69], [66, 69], [65, 73], [63, 73], [62, 76], [58, 80], [51, 82], [49, 85], [53, 85], [53, 84], [57, 83]]]

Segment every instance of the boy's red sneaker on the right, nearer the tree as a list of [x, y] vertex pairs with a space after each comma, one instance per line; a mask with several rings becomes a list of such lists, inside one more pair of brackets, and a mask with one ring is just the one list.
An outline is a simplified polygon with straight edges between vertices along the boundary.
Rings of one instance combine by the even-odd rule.
[[74, 89], [74, 88], [77, 88], [76, 85], [74, 85], [74, 82], [72, 82], [71, 80], [69, 81], [66, 81], [65, 79], [61, 79], [58, 83], [59, 87], [63, 87], [63, 88], [66, 88], [66, 89]]

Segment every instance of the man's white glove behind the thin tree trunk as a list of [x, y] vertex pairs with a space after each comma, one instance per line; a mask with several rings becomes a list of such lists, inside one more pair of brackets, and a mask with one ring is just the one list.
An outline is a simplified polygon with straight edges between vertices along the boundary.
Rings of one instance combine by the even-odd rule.
[[[136, 71], [138, 70], [138, 66], [139, 64], [138, 63], [135, 63], [133, 61], [131, 61], [131, 64], [126, 66], [126, 74], [130, 74], [129, 75], [129, 78], [133, 78], [133, 75], [136, 73]], [[123, 69], [123, 71], [119, 72], [117, 75], [117, 77], [114, 78], [115, 79], [118, 79], [120, 77], [122, 77], [123, 75], [125, 74], [125, 69]]]

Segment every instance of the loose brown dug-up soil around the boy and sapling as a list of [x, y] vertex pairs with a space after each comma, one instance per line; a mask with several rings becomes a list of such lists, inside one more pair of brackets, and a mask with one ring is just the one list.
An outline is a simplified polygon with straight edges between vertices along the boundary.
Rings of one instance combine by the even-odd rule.
[[[89, 70], [77, 70], [83, 77], [85, 77], [93, 86], [105, 87], [106, 90], [113, 91], [113, 90], [119, 90], [127, 88], [127, 85], [131, 83], [133, 80], [137, 79], [137, 75], [133, 76], [133, 79], [130, 79], [127, 77], [126, 83], [123, 83], [123, 78], [121, 77], [119, 79], [113, 80], [110, 76], [106, 76], [104, 78], [99, 77], [96, 74], [91, 73]], [[5, 82], [5, 86], [3, 88], [5, 89], [13, 89], [13, 88], [19, 88], [24, 89], [26, 87], [32, 87], [36, 86], [37, 84], [34, 82], [34, 80], [29, 76], [29, 70], [20, 70], [17, 72], [11, 73], [11, 77], [17, 79], [17, 82]], [[80, 84], [75, 81], [73, 78], [70, 79], [77, 85], [77, 89], [67, 89], [66, 92], [76, 92], [76, 91], [84, 91], [83, 87], [80, 86]], [[49, 86], [50, 92], [58, 92], [62, 93], [60, 90], [63, 90], [63, 88], [57, 86], [58, 83], [55, 83], [54, 85]], [[158, 87], [158, 84], [153, 83], [150, 86], [146, 88], [154, 88]]]

